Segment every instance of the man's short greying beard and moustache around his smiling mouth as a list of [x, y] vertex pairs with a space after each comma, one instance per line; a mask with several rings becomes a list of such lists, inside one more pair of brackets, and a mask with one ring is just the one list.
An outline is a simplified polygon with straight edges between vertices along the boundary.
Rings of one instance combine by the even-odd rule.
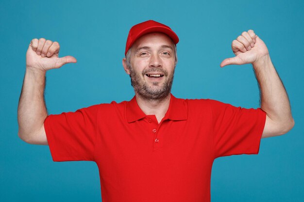
[[[131, 66], [129, 69], [131, 85], [133, 86], [134, 91], [138, 93], [141, 98], [145, 100], [161, 101], [170, 94], [175, 68], [170, 74], [166, 70], [160, 68], [149, 68], [144, 70], [142, 74], [136, 73]], [[152, 82], [151, 86], [151, 84], [144, 80], [144, 77], [148, 72], [162, 73], [164, 77], [166, 77], [164, 83], [159, 86], [159, 82]]]

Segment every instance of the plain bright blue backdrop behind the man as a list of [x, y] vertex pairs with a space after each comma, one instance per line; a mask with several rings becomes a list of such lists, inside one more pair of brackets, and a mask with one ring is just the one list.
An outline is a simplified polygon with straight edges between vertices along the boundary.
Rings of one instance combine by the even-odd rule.
[[[18, 138], [17, 105], [33, 38], [58, 41], [78, 62], [47, 72], [50, 114], [130, 100], [122, 67], [129, 29], [149, 19], [179, 36], [172, 93], [259, 107], [251, 64], [220, 68], [231, 42], [252, 29], [265, 42], [290, 99], [294, 128], [261, 140], [259, 155], [215, 160], [212, 202], [303, 202], [304, 1], [0, 1], [0, 201], [100, 202], [94, 162], [53, 162], [48, 146]], [[157, 193], [156, 193], [157, 194]]]

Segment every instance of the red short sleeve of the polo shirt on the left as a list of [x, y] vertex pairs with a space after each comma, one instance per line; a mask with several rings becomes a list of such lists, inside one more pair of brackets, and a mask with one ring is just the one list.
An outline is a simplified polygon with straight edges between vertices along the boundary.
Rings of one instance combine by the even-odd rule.
[[44, 128], [53, 161], [94, 161], [99, 105], [48, 115]]

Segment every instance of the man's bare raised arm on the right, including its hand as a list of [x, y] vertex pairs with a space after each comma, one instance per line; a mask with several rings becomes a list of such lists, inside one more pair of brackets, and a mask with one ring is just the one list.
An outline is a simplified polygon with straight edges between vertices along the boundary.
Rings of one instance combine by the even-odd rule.
[[244, 31], [232, 42], [236, 57], [227, 58], [221, 67], [229, 64], [252, 63], [261, 91], [261, 109], [266, 112], [262, 138], [287, 133], [294, 126], [286, 89], [279, 78], [265, 43], [253, 30]]

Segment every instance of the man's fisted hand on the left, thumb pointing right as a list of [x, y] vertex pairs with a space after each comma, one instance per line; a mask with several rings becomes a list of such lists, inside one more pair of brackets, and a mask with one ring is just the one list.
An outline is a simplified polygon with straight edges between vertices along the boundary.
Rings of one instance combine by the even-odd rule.
[[60, 68], [69, 62], [77, 62], [72, 56], [59, 58], [60, 46], [44, 38], [33, 39], [26, 52], [26, 68], [46, 72], [49, 69]]

